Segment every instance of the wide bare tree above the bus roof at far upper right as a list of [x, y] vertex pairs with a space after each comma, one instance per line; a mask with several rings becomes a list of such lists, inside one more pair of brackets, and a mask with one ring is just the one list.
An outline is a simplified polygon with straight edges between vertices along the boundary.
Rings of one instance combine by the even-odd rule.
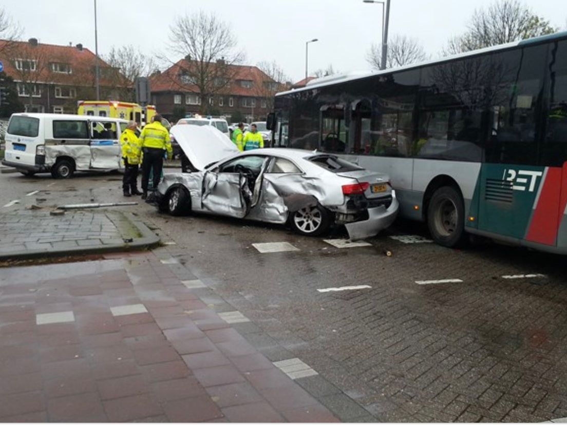
[[519, 0], [497, 0], [488, 8], [475, 10], [467, 28], [466, 33], [449, 40], [444, 53], [468, 52], [557, 31]]

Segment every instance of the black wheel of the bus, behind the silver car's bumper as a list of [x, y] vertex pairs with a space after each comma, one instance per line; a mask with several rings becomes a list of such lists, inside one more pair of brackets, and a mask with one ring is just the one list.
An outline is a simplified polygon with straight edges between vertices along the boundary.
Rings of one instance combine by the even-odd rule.
[[435, 190], [429, 201], [427, 223], [433, 240], [447, 248], [464, 242], [464, 202], [453, 186]]

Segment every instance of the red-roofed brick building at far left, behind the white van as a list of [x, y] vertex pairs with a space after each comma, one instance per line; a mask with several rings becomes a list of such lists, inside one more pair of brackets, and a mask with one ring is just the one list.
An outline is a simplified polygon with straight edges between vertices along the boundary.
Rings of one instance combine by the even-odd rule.
[[[0, 40], [0, 61], [14, 79], [26, 112], [77, 113], [77, 100], [95, 100], [95, 60], [82, 44]], [[99, 61], [100, 97], [117, 99], [119, 70]]]

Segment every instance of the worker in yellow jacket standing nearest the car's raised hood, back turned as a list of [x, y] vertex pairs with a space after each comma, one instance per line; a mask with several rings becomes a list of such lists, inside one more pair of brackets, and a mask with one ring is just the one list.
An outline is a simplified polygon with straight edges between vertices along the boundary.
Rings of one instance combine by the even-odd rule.
[[162, 177], [163, 158], [171, 159], [173, 151], [171, 148], [170, 133], [162, 125], [162, 116], [156, 114], [154, 121], [146, 125], [140, 134], [140, 142], [142, 143], [142, 199], [147, 198], [147, 186], [150, 180], [150, 171], [153, 168], [154, 190], [158, 187], [159, 180]]

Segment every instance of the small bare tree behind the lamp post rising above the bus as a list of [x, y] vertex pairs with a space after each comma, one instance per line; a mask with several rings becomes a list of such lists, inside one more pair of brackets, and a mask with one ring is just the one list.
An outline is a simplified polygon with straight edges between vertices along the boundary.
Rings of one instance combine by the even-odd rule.
[[[388, 58], [386, 67], [410, 65], [411, 63], [425, 61], [427, 55], [417, 39], [408, 36], [395, 35], [388, 43]], [[366, 54], [366, 61], [373, 69], [380, 69], [382, 63], [382, 45], [373, 44]]]

